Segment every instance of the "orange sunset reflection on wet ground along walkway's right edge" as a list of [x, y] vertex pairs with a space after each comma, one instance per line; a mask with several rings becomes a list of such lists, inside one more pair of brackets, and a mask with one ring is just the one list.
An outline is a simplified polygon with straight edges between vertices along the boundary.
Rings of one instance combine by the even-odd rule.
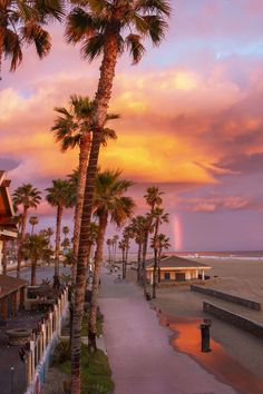
[[231, 384], [241, 393], [263, 393], [263, 380], [228, 356], [224, 348], [212, 338], [210, 346], [212, 352], [201, 352], [199, 324], [203, 323], [201, 318], [160, 315], [160, 323], [175, 332], [172, 344], [177, 351], [191, 355], [221, 381]]

